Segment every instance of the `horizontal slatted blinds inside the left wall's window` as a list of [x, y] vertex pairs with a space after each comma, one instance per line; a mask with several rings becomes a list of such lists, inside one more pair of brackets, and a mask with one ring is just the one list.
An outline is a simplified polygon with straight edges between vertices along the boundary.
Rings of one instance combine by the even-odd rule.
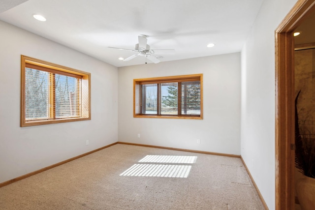
[[35, 67], [25, 68], [26, 120], [81, 117], [81, 79]]

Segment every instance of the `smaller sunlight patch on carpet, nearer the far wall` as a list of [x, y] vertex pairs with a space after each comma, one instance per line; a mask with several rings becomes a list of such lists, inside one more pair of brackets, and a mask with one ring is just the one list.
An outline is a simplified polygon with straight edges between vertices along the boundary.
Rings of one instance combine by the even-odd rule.
[[147, 155], [139, 162], [147, 163], [195, 163], [197, 156], [179, 156], [179, 155]]

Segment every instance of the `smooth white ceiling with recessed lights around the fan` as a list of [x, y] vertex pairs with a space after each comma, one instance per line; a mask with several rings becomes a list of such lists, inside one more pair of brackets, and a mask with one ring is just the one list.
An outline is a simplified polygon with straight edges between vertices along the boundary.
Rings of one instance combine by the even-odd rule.
[[133, 52], [108, 47], [134, 49], [140, 34], [151, 49], [176, 50], [161, 61], [240, 52], [263, 0], [1, 1], [0, 20], [120, 67], [145, 58], [121, 61]]

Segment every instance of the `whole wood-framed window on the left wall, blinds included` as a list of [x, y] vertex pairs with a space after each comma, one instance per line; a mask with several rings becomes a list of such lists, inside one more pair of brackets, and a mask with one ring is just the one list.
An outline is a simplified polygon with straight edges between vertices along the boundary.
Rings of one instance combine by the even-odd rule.
[[21, 56], [21, 127], [91, 120], [91, 74]]

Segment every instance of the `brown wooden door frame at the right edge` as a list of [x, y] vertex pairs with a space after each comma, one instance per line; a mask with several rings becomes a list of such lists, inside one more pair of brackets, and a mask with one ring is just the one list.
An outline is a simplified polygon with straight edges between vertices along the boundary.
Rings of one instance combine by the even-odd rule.
[[294, 41], [293, 30], [315, 10], [315, 0], [298, 0], [275, 31], [276, 210], [294, 210]]

